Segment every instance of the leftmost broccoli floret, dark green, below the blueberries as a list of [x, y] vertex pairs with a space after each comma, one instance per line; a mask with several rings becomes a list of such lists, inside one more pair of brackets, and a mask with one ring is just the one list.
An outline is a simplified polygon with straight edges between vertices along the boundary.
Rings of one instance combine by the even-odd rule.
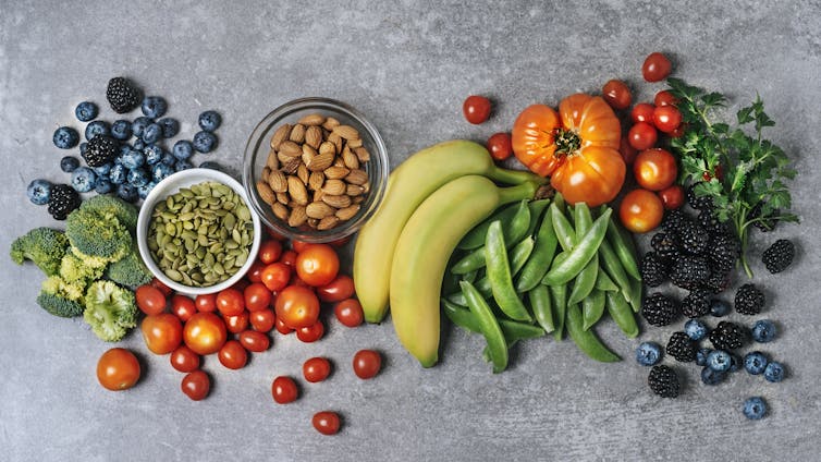
[[17, 265], [32, 260], [47, 276], [60, 270], [60, 262], [65, 255], [69, 239], [51, 228], [35, 228], [21, 235], [11, 244], [11, 259]]

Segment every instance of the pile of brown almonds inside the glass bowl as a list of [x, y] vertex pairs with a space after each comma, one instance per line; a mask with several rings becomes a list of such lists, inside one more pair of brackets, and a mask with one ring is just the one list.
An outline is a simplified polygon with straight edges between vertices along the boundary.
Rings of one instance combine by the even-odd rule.
[[257, 192], [290, 227], [329, 230], [359, 211], [369, 160], [356, 129], [311, 113], [274, 131]]

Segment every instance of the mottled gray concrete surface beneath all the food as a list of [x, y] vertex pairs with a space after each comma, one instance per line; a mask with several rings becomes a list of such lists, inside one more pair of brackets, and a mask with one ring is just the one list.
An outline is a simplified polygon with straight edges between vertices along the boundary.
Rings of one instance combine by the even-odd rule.
[[[142, 357], [144, 378], [113, 393], [95, 378], [110, 345], [82, 320], [42, 312], [35, 304], [39, 271], [0, 258], [0, 459], [818, 460], [818, 1], [2, 1], [0, 248], [32, 227], [54, 224], [26, 200], [26, 184], [66, 180], [51, 134], [61, 124], [81, 127], [74, 106], [105, 104], [114, 75], [167, 97], [186, 136], [201, 110], [221, 111], [219, 150], [199, 161], [238, 171], [259, 119], [286, 100], [319, 95], [367, 114], [397, 165], [434, 142], [482, 141], [507, 130], [529, 104], [597, 92], [612, 77], [632, 83], [638, 100], [650, 99], [661, 86], [644, 84], [640, 65], [655, 50], [673, 57], [677, 76], [734, 101], [758, 92], [779, 124], [772, 138], [800, 172], [793, 191], [802, 223], [753, 240], [753, 253], [776, 238], [795, 239], [800, 248], [797, 265], [776, 277], [755, 265], [755, 282], [771, 301], [761, 317], [783, 329], [765, 348], [788, 365], [783, 384], [738, 374], [704, 388], [690, 366], [682, 367], [679, 399], [652, 397], [632, 352], [673, 327], [625, 340], [604, 324], [600, 333], [626, 358], [612, 365], [593, 364], [567, 341], [527, 342], [511, 369], [494, 376], [477, 336], [448, 329], [441, 364], [425, 370], [402, 352], [390, 323], [353, 330], [331, 323], [316, 344], [275, 337], [271, 351], [238, 372], [209, 357], [215, 387], [203, 402], [180, 392], [181, 375], [167, 357], [148, 354], [134, 332], [122, 344]], [[468, 94], [495, 99], [488, 123], [463, 120]], [[384, 353], [373, 380], [351, 372], [360, 348]], [[333, 360], [331, 378], [303, 386], [294, 404], [275, 405], [272, 377], [297, 376], [313, 355]], [[771, 406], [761, 422], [740, 412], [755, 394]], [[343, 414], [340, 435], [311, 428], [310, 416], [323, 409]]]

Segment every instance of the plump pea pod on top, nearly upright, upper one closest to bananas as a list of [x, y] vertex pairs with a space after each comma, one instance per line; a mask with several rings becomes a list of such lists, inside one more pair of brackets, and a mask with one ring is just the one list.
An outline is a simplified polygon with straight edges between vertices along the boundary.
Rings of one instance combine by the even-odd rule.
[[499, 308], [511, 319], [532, 321], [525, 304], [522, 303], [516, 290], [513, 288], [511, 267], [507, 263], [507, 251], [504, 247], [502, 223], [499, 221], [494, 221], [488, 228], [488, 235], [485, 239], [485, 251], [488, 279], [493, 292], [493, 300], [497, 301]]

